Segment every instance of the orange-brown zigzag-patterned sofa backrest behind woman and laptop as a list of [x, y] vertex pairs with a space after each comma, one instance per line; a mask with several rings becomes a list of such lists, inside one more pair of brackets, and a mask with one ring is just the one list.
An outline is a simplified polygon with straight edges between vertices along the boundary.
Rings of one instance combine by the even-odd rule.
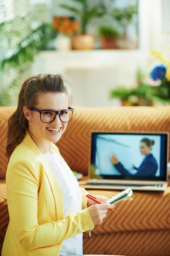
[[[0, 178], [5, 178], [7, 168], [7, 121], [15, 109], [0, 107]], [[91, 131], [170, 132], [170, 106], [76, 107], [73, 119], [56, 145], [71, 169], [83, 174], [88, 174]]]

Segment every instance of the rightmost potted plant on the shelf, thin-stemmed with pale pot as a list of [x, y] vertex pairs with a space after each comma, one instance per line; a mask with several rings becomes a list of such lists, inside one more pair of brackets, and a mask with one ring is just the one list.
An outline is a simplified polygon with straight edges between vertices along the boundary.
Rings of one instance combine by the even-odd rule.
[[127, 6], [124, 9], [114, 8], [111, 15], [114, 20], [116, 20], [119, 26], [122, 27], [122, 35], [119, 37], [118, 44], [122, 49], [136, 48], [136, 43], [130, 40], [127, 35], [127, 26], [132, 21], [133, 15], [137, 13], [137, 8], [134, 5]]

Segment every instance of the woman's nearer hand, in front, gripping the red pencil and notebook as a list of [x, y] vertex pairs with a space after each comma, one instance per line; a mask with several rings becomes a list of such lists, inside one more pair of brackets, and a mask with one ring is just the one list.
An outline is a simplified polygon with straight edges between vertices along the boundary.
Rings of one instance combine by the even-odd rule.
[[94, 226], [101, 224], [103, 219], [106, 217], [108, 209], [113, 209], [114, 204], [94, 204], [88, 207], [88, 211], [93, 220]]

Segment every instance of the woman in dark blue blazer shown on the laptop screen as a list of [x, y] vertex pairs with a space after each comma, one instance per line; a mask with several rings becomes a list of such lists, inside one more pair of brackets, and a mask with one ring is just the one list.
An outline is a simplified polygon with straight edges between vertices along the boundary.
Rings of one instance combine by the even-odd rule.
[[138, 176], [155, 176], [156, 171], [158, 169], [158, 164], [150, 151], [152, 150], [152, 146], [154, 145], [154, 140], [149, 140], [147, 138], [143, 138], [140, 142], [140, 152], [144, 155], [144, 159], [141, 165], [136, 168], [133, 166], [134, 169], [137, 170], [135, 174], [131, 174], [125, 167], [122, 165], [121, 162], [117, 159], [115, 154], [111, 157], [111, 163], [115, 166], [115, 168], [122, 174], [122, 175], [138, 175]]

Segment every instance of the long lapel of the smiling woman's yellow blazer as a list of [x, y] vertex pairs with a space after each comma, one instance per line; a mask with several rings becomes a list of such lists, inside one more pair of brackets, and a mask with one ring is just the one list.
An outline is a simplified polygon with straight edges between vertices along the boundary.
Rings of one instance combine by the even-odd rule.
[[28, 147], [34, 151], [34, 153], [37, 155], [37, 157], [42, 162], [42, 165], [45, 169], [45, 174], [47, 175], [48, 181], [51, 186], [51, 191], [54, 196], [56, 212], [57, 212], [57, 220], [62, 220], [64, 204], [63, 204], [62, 190], [59, 186], [57, 179], [56, 179], [53, 171], [51, 170], [51, 167], [49, 166], [48, 162], [46, 161], [45, 157], [43, 156], [41, 151], [38, 149], [37, 145], [34, 143], [31, 136], [28, 134], [28, 132], [27, 132], [26, 137], [24, 138], [23, 142], [26, 143], [28, 145]]

